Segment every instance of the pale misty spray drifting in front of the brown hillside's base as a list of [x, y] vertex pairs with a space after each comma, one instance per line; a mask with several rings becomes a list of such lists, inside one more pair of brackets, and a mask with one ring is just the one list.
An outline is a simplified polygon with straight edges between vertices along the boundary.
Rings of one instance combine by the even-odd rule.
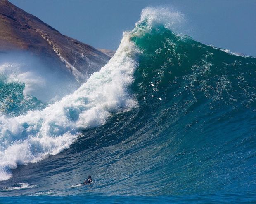
[[[1, 80], [3, 86], [10, 83], [16, 87], [24, 86], [17, 94], [21, 93], [24, 98], [33, 96], [37, 100], [50, 103], [73, 93], [81, 86], [69, 70], [58, 67], [48, 61], [47, 57], [45, 61], [42, 58], [44, 56], [39, 58], [25, 51], [9, 51], [0, 55], [0, 80], [5, 77], [4, 81]], [[0, 88], [5, 93], [9, 91], [2, 86]], [[19, 106], [22, 105], [25, 106]]]

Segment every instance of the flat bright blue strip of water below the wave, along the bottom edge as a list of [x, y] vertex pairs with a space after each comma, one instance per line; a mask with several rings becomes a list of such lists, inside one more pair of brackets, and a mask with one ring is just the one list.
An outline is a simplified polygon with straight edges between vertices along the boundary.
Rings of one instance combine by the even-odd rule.
[[[1, 202], [2, 200], [2, 202]], [[23, 204], [23, 203], [92, 203], [92, 204], [117, 204], [117, 203], [255, 203], [255, 197], [247, 195], [246, 197], [237, 195], [204, 195], [204, 196], [32, 196], [32, 197], [2, 197], [1, 203], [11, 204]]]

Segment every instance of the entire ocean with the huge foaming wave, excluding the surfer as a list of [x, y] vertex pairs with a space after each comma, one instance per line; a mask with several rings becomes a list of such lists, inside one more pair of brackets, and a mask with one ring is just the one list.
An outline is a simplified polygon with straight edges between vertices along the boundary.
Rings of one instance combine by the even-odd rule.
[[0, 202], [253, 203], [256, 58], [178, 34], [182, 21], [144, 9], [55, 102], [2, 73]]

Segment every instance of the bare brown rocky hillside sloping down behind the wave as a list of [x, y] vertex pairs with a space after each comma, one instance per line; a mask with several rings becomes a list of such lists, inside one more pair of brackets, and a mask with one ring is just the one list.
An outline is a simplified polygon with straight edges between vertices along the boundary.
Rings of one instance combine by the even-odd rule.
[[29, 51], [68, 69], [80, 83], [110, 59], [92, 46], [62, 35], [7, 0], [0, 0], [0, 54], [12, 50]]

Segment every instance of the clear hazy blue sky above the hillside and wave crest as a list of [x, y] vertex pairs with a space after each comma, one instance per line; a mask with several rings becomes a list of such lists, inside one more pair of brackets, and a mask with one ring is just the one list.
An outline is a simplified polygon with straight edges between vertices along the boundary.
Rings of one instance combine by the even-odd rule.
[[183, 34], [204, 44], [256, 56], [256, 0], [9, 0], [64, 35], [116, 50], [143, 8], [185, 15]]

